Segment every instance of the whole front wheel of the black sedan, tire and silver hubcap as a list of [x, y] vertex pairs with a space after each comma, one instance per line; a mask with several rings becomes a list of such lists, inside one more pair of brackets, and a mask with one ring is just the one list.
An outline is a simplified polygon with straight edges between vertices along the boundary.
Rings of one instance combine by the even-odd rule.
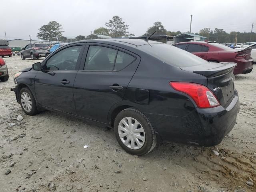
[[24, 87], [19, 92], [20, 106], [27, 115], [35, 115], [38, 113], [36, 108], [36, 100], [31, 91]]

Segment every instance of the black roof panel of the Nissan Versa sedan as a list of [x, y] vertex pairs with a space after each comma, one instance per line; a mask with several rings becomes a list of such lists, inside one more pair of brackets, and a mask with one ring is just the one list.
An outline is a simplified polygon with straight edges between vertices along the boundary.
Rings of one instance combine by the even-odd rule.
[[[94, 40], [82, 40], [82, 41], [75, 41], [72, 43], [77, 43], [77, 42], [95, 42], [95, 43], [109, 43], [109, 44], [123, 44], [126, 46], [141, 46], [145, 44], [156, 44], [156, 43], [161, 43], [161, 42], [156, 42], [156, 41], [145, 41], [144, 39], [128, 39], [128, 38], [112, 38], [112, 39], [94, 39]], [[70, 44], [72, 44], [70, 43]]]

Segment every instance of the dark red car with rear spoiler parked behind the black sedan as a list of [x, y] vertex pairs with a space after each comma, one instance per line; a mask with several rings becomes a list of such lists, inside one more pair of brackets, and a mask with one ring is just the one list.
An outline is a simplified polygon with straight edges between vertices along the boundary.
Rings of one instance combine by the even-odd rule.
[[252, 72], [251, 48], [236, 50], [216, 42], [181, 42], [173, 46], [186, 50], [210, 62], [234, 62], [234, 74]]

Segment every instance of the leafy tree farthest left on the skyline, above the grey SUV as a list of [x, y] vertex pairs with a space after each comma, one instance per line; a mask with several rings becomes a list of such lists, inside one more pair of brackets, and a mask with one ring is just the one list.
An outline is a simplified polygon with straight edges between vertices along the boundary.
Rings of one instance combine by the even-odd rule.
[[47, 25], [43, 25], [39, 28], [39, 33], [37, 37], [41, 40], [49, 40], [50, 38], [62, 36], [62, 27], [56, 21], [50, 21]]

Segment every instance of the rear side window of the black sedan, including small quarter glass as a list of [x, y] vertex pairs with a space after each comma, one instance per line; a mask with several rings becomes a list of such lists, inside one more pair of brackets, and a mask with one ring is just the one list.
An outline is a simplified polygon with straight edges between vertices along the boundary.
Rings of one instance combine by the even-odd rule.
[[119, 71], [135, 59], [134, 56], [116, 49], [91, 45], [86, 56], [84, 70]]

